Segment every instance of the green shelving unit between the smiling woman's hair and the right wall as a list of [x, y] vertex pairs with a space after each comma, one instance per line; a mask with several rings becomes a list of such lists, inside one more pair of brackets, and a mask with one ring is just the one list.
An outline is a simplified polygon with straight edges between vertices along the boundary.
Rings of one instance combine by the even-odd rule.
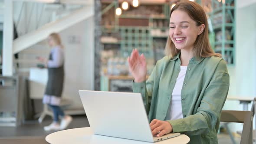
[[212, 0], [211, 7], [209, 16], [215, 34], [213, 49], [228, 65], [235, 65], [236, 0]]

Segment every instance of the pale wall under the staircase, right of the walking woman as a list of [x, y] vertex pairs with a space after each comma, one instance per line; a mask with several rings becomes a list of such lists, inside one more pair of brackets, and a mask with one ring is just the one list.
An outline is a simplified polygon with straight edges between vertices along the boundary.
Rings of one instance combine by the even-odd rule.
[[[66, 56], [63, 97], [74, 101], [73, 108], [82, 108], [78, 90], [94, 89], [94, 18], [77, 23], [60, 35]], [[76, 40], [72, 41], [72, 36]]]

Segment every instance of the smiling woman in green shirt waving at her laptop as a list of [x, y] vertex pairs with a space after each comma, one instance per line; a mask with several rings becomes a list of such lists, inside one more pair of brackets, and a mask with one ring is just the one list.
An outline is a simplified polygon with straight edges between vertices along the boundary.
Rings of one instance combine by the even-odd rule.
[[226, 62], [210, 47], [203, 8], [184, 0], [170, 13], [166, 55], [148, 80], [144, 54], [128, 57], [133, 92], [140, 92], [152, 134], [185, 133], [190, 144], [217, 144], [220, 112], [229, 90]]

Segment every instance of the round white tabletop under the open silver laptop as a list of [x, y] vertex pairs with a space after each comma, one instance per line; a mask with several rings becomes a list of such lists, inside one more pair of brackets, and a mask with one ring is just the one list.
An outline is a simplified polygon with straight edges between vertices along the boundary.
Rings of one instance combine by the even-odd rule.
[[[90, 127], [57, 131], [47, 135], [45, 139], [49, 144], [152, 144], [144, 141], [94, 135]], [[189, 141], [190, 138], [187, 135], [181, 134], [159, 141], [157, 144], [187, 144]]]

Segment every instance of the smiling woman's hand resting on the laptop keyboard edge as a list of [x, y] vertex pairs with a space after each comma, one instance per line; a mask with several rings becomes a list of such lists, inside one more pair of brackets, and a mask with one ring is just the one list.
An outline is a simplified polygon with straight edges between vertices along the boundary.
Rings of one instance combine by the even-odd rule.
[[164, 134], [169, 134], [173, 131], [172, 126], [168, 121], [154, 119], [149, 125], [153, 136], [157, 134], [157, 137], [161, 137]]

